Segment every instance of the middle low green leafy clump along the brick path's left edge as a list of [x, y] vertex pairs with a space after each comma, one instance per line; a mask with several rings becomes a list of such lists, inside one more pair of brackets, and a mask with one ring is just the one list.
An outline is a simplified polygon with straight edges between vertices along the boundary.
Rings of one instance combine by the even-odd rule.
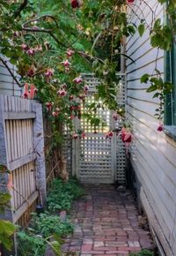
[[73, 231], [73, 224], [66, 217], [62, 220], [59, 216], [40, 214], [33, 214], [32, 228], [36, 234], [40, 234], [42, 237], [49, 237], [56, 235], [58, 237], [64, 237]]

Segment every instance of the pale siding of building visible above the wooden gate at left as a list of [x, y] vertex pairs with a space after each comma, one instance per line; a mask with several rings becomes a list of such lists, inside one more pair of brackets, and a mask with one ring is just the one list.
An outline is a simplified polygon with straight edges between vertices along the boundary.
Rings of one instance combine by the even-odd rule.
[[[15, 68], [11, 64], [8, 64], [11, 67], [11, 71], [15, 74]], [[6, 95], [21, 95], [21, 88], [15, 83], [11, 77], [10, 72], [4, 67], [4, 64], [0, 61], [0, 94]]]

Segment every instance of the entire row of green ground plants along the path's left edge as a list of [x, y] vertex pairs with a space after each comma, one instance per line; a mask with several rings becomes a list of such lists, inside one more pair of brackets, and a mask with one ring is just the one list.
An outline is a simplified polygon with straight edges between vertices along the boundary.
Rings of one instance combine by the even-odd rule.
[[18, 255], [43, 256], [48, 246], [55, 255], [62, 255], [62, 239], [74, 230], [65, 210], [69, 211], [74, 200], [83, 195], [77, 179], [70, 178], [64, 183], [56, 178], [48, 192], [48, 211], [40, 215], [33, 213], [29, 227], [18, 231]]

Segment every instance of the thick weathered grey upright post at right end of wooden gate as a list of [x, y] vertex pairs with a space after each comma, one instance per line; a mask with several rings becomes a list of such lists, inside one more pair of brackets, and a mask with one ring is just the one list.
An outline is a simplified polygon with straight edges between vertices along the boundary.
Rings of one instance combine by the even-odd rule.
[[47, 198], [47, 182], [46, 182], [46, 167], [44, 154], [44, 132], [43, 132], [43, 118], [42, 106], [40, 103], [33, 102], [33, 112], [35, 112], [35, 119], [33, 122], [33, 146], [37, 154], [36, 158], [36, 178], [37, 187], [40, 192], [41, 203], [45, 204]]

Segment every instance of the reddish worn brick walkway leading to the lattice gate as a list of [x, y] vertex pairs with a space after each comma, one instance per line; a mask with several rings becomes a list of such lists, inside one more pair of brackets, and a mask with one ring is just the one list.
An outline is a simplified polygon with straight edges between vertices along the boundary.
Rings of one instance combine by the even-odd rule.
[[130, 192], [117, 192], [113, 185], [85, 185], [86, 196], [73, 211], [76, 229], [66, 238], [63, 252], [73, 255], [127, 256], [150, 248], [150, 234], [137, 222]]

